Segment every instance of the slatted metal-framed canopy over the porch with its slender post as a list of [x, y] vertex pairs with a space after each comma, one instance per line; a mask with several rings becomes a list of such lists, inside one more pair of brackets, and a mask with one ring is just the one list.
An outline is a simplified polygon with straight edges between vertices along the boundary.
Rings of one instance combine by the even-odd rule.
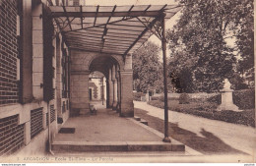
[[161, 40], [164, 75], [164, 138], [168, 138], [165, 20], [178, 5], [53, 6], [54, 26], [69, 48], [120, 55], [132, 54], [155, 34]]

